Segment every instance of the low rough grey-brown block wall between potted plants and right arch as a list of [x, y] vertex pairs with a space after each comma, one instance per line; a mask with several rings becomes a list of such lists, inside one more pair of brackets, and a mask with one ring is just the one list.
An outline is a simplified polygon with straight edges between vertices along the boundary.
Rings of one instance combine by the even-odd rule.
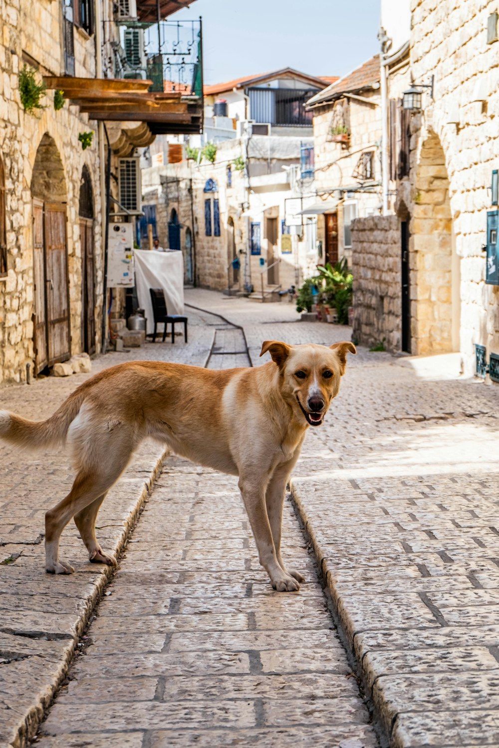
[[396, 215], [352, 221], [353, 338], [364, 346], [400, 350], [402, 279]]

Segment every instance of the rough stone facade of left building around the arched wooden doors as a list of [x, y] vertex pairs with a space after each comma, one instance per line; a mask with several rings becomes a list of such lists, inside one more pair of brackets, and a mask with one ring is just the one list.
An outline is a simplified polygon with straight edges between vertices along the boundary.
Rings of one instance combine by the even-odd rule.
[[[0, 279], [0, 384], [25, 379], [25, 365], [33, 363], [33, 243], [31, 180], [37, 149], [44, 136], [52, 139], [64, 171], [67, 200], [67, 251], [70, 281], [72, 352], [81, 351], [82, 259], [79, 239], [79, 189], [86, 164], [94, 191], [94, 244], [96, 294], [102, 297], [102, 243], [100, 238], [100, 181], [97, 137], [83, 151], [78, 135], [93, 129], [87, 115], [69, 106], [55, 111], [53, 92], [38, 116], [27, 114], [19, 98], [18, 74], [25, 50], [50, 73], [61, 74], [61, 5], [43, 0], [0, 0], [3, 22], [0, 37], [0, 156], [4, 162], [7, 276]], [[94, 74], [94, 39], [75, 32], [76, 74]], [[84, 66], [87, 65], [88, 68]], [[53, 200], [46, 190], [46, 200]], [[100, 336], [100, 304], [97, 336]]]

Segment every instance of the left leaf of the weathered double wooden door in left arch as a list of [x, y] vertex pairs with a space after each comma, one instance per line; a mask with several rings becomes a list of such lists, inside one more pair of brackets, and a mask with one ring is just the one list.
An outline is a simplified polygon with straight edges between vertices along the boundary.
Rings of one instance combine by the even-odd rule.
[[46, 328], [45, 251], [43, 249], [43, 203], [33, 200], [34, 280], [34, 373], [49, 363]]

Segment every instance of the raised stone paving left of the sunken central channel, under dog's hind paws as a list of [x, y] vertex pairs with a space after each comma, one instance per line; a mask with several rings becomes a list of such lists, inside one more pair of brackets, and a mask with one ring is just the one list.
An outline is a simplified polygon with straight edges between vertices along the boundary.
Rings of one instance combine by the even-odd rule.
[[[214, 332], [189, 314], [189, 345], [147, 343], [93, 361], [93, 373], [135, 358], [203, 366]], [[40, 420], [48, 417], [88, 375], [40, 378], [0, 389], [0, 408]], [[98, 536], [123, 548], [141, 504], [162, 464], [164, 450], [144, 444], [99, 515]], [[19, 453], [0, 443], [0, 744], [15, 747], [33, 735], [52, 700], [105, 581], [107, 567], [90, 564], [76, 528], [64, 531], [61, 553], [76, 567], [71, 577], [44, 571], [44, 514], [69, 491], [67, 454]], [[126, 743], [123, 743], [126, 745]]]

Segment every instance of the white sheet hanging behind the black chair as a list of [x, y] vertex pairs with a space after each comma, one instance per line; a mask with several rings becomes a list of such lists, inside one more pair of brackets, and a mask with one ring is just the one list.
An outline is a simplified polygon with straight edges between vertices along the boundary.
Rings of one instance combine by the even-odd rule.
[[138, 306], [144, 310], [147, 318], [147, 334], [152, 334], [154, 314], [149, 289], [163, 289], [168, 314], [184, 313], [183, 254], [180, 251], [157, 252], [154, 249], [134, 249], [133, 254]]

